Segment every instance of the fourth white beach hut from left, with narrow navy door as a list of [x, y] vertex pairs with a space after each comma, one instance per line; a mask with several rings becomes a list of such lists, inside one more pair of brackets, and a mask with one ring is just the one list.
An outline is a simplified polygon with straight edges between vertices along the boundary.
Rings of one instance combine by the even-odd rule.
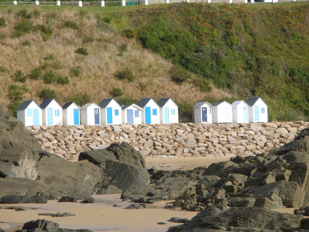
[[86, 125], [101, 125], [100, 107], [95, 103], [87, 103], [80, 108], [80, 123]]

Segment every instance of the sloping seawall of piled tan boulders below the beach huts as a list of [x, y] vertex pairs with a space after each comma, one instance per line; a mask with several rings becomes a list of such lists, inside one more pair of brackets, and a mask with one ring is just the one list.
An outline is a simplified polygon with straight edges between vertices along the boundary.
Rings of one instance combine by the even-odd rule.
[[41, 147], [65, 159], [127, 142], [144, 158], [256, 155], [290, 142], [309, 122], [32, 126]]

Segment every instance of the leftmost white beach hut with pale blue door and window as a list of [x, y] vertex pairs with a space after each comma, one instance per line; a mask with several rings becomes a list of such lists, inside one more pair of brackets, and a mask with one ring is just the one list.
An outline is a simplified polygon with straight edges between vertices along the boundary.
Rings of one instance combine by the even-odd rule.
[[33, 100], [24, 101], [17, 109], [17, 119], [23, 122], [25, 127], [42, 125], [42, 109]]

